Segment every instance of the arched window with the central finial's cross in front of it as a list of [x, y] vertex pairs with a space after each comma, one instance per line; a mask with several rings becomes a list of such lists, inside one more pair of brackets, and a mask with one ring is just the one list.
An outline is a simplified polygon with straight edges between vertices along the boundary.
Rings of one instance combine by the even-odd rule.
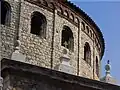
[[71, 29], [68, 26], [64, 26], [62, 30], [62, 46], [69, 50], [74, 50], [74, 38]]

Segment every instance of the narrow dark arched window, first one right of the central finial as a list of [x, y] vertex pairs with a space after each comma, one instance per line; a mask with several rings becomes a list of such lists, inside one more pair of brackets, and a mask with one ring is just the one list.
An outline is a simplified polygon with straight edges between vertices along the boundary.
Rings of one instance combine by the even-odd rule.
[[85, 43], [84, 46], [84, 60], [91, 65], [91, 50], [90, 50], [90, 45], [89, 43]]

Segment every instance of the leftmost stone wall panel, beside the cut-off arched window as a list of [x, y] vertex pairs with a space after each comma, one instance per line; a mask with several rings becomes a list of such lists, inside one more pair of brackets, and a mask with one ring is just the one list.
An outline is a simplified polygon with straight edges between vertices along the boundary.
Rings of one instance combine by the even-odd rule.
[[11, 22], [10, 26], [0, 25], [1, 58], [11, 58], [18, 30], [19, 2], [16, 2], [15, 0], [5, 1], [11, 6]]

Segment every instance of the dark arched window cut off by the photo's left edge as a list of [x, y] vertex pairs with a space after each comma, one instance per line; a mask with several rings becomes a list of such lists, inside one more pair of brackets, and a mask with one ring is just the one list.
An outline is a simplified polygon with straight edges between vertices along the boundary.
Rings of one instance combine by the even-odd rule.
[[10, 25], [11, 20], [11, 6], [6, 1], [0, 1], [1, 3], [1, 24]]

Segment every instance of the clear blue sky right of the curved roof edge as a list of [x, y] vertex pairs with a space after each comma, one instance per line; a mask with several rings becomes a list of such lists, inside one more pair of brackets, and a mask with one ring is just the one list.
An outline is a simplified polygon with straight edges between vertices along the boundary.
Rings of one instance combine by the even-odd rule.
[[120, 83], [120, 0], [70, 0], [84, 10], [100, 27], [105, 39], [101, 73], [110, 60], [111, 75]]

